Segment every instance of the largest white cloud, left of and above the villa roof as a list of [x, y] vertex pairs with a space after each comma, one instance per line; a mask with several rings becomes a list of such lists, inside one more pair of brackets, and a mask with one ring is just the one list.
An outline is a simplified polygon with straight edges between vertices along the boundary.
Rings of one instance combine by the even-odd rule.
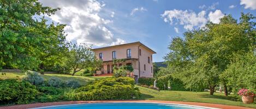
[[[78, 43], [93, 44], [94, 46], [108, 46], [120, 42], [121, 39], [107, 28], [111, 20], [99, 16], [104, 3], [96, 0], [69, 1], [40, 0], [45, 6], [61, 8], [55, 15], [49, 16], [52, 21], [67, 24], [64, 31], [67, 40]], [[114, 14], [111, 13], [114, 17]]]

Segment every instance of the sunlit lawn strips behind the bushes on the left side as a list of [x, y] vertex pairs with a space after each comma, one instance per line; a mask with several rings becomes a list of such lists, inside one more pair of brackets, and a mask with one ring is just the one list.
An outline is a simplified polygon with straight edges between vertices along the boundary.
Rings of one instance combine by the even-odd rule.
[[[6, 73], [6, 75], [1, 75], [0, 73], [0, 79], [14, 79], [14, 78], [19, 78], [21, 79], [23, 76], [25, 75], [25, 73]], [[78, 76], [78, 75], [67, 75], [67, 74], [44, 74], [41, 75], [43, 76], [43, 78], [45, 80], [50, 79], [51, 77], [58, 77], [61, 78], [62, 80], [66, 81], [66, 80], [77, 80], [80, 82], [81, 85], [86, 85], [86, 83], [88, 81], [94, 81], [94, 80], [99, 80], [101, 78], [105, 78], [103, 76]]]

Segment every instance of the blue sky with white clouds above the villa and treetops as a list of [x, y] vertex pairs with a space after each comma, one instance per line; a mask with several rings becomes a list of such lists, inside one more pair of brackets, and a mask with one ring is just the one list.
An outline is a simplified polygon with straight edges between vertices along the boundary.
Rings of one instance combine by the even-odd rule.
[[256, 16], [256, 0], [39, 0], [61, 8], [49, 22], [67, 24], [67, 40], [92, 48], [140, 41], [153, 49], [154, 62], [164, 61], [174, 37], [204, 27], [207, 21], [241, 12]]

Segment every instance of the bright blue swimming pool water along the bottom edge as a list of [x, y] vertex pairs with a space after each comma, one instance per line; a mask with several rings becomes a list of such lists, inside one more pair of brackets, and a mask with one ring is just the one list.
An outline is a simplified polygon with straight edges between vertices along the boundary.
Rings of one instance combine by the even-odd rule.
[[33, 109], [89, 109], [89, 108], [90, 109], [206, 109], [208, 107], [176, 105], [176, 104], [159, 104], [159, 103], [116, 102], [116, 103], [57, 105], [57, 106], [37, 107]]

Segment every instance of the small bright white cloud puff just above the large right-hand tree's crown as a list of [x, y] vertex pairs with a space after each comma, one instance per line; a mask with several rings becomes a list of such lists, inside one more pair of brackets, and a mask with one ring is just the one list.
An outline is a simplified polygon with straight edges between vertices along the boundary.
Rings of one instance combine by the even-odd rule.
[[219, 23], [219, 18], [222, 18], [224, 16], [224, 14], [222, 13], [221, 10], [215, 10], [215, 12], [210, 12], [209, 16], [209, 20], [213, 23]]

